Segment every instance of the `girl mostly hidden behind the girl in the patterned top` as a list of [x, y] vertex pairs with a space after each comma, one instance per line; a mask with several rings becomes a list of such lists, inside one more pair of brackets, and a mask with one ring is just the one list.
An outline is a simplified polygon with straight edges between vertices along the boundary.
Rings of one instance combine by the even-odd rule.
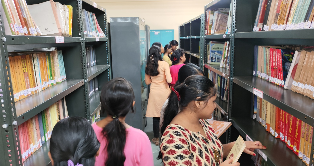
[[[196, 66], [195, 64], [187, 63], [186, 65], [182, 66], [178, 72], [178, 81], [176, 82], [175, 87], [183, 83], [183, 81], [187, 77], [193, 76], [193, 75], [205, 76], [203, 70], [200, 67]], [[161, 108], [159, 128], [161, 128], [161, 125], [164, 121], [164, 112], [168, 104], [168, 101], [169, 101], [169, 98], [165, 101], [164, 105]], [[178, 110], [178, 112], [180, 112], [180, 109]]]

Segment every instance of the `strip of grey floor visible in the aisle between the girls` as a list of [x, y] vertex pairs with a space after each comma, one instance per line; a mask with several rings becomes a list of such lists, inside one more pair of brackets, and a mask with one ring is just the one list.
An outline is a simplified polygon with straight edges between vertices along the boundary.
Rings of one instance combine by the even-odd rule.
[[[144, 129], [144, 132], [148, 135], [149, 140], [152, 140], [154, 138], [154, 133], [153, 133], [153, 118], [152, 117], [146, 117], [147, 118], [147, 126]], [[151, 146], [153, 150], [153, 157], [154, 157], [154, 166], [162, 166], [162, 160], [157, 160], [157, 156], [159, 153], [159, 146], [156, 146], [152, 141]]]

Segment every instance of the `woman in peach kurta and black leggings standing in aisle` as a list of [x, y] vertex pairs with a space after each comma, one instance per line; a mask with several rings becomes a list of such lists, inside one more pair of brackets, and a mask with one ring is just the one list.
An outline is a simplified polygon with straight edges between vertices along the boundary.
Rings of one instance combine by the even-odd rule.
[[170, 94], [168, 83], [171, 83], [169, 64], [161, 59], [160, 47], [149, 49], [147, 66], [145, 68], [145, 83], [151, 84], [146, 117], [153, 117], [154, 138], [152, 141], [159, 145], [159, 120], [162, 105]]

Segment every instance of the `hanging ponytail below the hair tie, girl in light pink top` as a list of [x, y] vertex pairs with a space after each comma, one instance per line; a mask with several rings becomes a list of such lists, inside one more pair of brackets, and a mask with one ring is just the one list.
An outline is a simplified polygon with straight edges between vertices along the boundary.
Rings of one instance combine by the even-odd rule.
[[125, 161], [124, 146], [127, 140], [125, 126], [114, 118], [103, 128], [103, 134], [107, 138], [108, 158], [106, 166], [123, 166]]

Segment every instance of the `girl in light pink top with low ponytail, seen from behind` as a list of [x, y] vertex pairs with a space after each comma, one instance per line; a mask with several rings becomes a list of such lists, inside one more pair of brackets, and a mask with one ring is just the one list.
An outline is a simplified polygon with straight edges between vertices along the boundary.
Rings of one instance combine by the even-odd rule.
[[125, 123], [127, 113], [134, 112], [134, 98], [131, 83], [124, 78], [114, 78], [103, 86], [100, 113], [107, 117], [92, 125], [100, 141], [95, 166], [154, 165], [148, 136]]

